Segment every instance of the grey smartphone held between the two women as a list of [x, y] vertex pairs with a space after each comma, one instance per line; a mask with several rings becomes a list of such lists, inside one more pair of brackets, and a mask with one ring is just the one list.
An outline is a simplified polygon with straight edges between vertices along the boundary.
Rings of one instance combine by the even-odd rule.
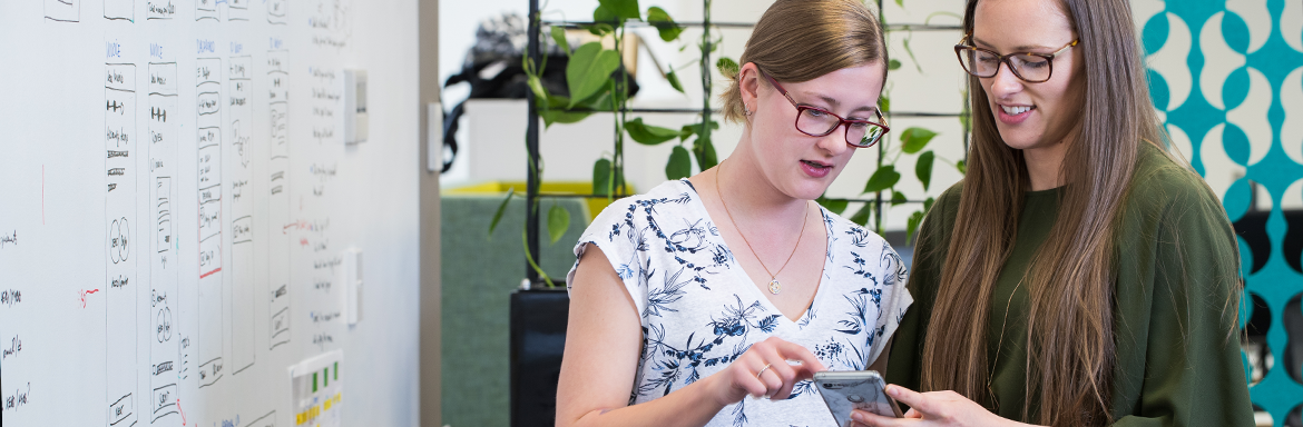
[[886, 393], [887, 383], [877, 371], [814, 372], [814, 388], [833, 413], [838, 427], [851, 426], [851, 410], [900, 418], [900, 406]]

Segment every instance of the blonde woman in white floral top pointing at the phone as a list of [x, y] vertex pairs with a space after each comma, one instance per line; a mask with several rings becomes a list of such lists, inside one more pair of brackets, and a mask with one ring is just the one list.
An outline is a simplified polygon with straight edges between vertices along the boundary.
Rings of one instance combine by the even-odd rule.
[[558, 426], [827, 426], [813, 372], [882, 368], [904, 266], [813, 202], [889, 130], [882, 29], [860, 1], [779, 0], [741, 64], [732, 155], [575, 246]]

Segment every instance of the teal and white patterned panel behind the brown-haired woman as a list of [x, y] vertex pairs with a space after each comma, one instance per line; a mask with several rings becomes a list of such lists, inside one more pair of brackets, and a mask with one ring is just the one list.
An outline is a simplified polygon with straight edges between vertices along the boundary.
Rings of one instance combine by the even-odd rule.
[[1136, 0], [1132, 8], [1171, 143], [1221, 197], [1240, 236], [1253, 404], [1276, 426], [1291, 411], [1296, 423], [1303, 0]]

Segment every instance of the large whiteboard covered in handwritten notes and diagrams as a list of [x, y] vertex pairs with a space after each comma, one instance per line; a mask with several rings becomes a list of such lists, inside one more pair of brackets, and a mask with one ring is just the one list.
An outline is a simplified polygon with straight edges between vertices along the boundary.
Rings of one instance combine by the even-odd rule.
[[297, 426], [291, 367], [327, 353], [331, 419], [417, 423], [416, 12], [0, 1], [5, 427]]

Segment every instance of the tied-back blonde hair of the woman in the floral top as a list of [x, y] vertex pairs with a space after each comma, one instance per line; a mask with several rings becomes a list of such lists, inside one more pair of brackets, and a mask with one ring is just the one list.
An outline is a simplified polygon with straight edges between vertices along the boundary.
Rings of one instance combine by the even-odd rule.
[[[853, 0], [778, 0], [760, 17], [739, 64], [754, 62], [780, 82], [807, 82], [851, 66], [881, 61], [886, 81], [887, 51], [882, 25]], [[724, 120], [741, 122], [745, 105], [737, 74], [723, 100]]]

